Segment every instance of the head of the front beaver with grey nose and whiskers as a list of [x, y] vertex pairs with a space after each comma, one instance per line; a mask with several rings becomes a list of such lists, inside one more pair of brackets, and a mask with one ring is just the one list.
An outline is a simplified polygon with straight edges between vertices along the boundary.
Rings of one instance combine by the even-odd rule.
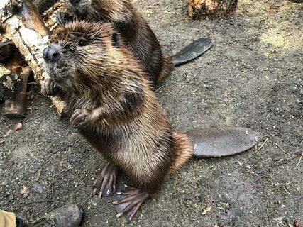
[[119, 34], [108, 23], [74, 21], [58, 28], [43, 51], [45, 70], [65, 89], [113, 82], [127, 60]]

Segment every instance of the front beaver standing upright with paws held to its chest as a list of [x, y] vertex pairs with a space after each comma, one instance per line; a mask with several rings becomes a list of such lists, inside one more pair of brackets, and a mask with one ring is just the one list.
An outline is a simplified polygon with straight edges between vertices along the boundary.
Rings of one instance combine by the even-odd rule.
[[189, 132], [193, 151], [187, 135], [172, 131], [141, 64], [110, 23], [69, 22], [57, 28], [50, 43], [43, 52], [52, 78], [48, 89], [60, 88], [54, 94], [65, 101], [70, 122], [109, 161], [94, 183], [94, 193], [101, 197], [115, 192], [119, 170], [133, 179], [135, 187], [126, 187], [114, 201], [117, 217], [126, 214], [131, 220], [192, 155], [207, 155], [204, 148], [221, 151], [213, 156], [226, 155], [226, 143], [233, 148], [241, 138], [236, 133], [235, 141], [233, 132], [224, 130]]

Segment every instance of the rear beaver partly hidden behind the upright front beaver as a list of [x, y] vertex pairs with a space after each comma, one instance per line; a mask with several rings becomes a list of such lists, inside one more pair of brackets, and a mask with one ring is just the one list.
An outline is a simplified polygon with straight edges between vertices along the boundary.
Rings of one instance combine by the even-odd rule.
[[70, 13], [57, 13], [57, 22], [61, 26], [73, 18], [112, 23], [128, 43], [131, 53], [141, 62], [153, 87], [175, 66], [202, 55], [212, 45], [210, 39], [201, 38], [172, 57], [163, 55], [150, 26], [128, 0], [66, 0], [66, 8]]

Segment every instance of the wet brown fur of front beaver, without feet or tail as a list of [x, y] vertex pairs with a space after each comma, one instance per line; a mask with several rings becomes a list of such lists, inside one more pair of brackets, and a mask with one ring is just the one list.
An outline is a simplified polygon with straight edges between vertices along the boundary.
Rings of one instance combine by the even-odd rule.
[[[92, 121], [79, 128], [84, 138], [121, 167], [136, 187], [153, 193], [192, 155], [192, 145], [186, 135], [172, 133], [142, 66], [123, 40], [119, 47], [112, 45], [113, 33], [110, 24], [83, 21], [67, 23], [55, 32], [52, 45], [60, 46], [62, 59], [68, 57], [77, 72], [67, 68], [70, 78], [59, 84], [58, 95], [68, 116], [76, 109], [91, 111]], [[89, 44], [77, 47], [79, 38]], [[65, 64], [47, 67], [54, 79], [52, 69], [60, 65]]]

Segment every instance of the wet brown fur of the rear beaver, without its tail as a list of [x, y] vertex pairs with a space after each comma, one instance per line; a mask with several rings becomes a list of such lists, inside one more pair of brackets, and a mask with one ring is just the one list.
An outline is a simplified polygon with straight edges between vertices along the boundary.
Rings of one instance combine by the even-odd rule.
[[[125, 39], [129, 50], [141, 62], [153, 86], [173, 70], [172, 58], [163, 56], [160, 44], [148, 23], [128, 0], [81, 0], [89, 6], [75, 7], [67, 2], [67, 8], [77, 18], [89, 21], [113, 23]], [[80, 2], [81, 2], [80, 1]]]

